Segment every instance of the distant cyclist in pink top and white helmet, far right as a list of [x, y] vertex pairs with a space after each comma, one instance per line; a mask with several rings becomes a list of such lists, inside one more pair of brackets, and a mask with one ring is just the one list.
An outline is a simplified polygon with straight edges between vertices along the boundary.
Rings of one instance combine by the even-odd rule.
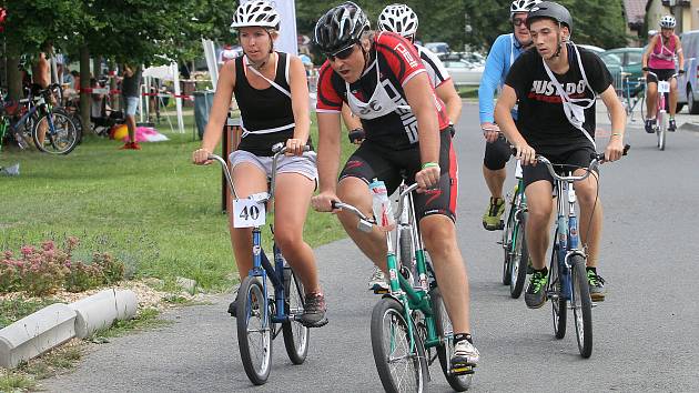
[[[648, 83], [648, 94], [646, 95], [646, 108], [648, 109], [646, 132], [648, 133], [655, 132], [658, 79], [670, 82], [670, 108], [668, 111], [670, 112], [670, 123], [668, 131], [677, 130], [677, 123], [675, 122], [675, 113], [677, 112], [677, 78], [671, 78], [675, 74], [676, 60], [679, 62], [679, 72], [685, 72], [685, 56], [682, 54], [679, 37], [675, 33], [675, 26], [677, 24], [675, 17], [665, 16], [660, 18], [658, 24], [660, 24], [660, 33], [655, 34], [650, 39], [641, 60]], [[647, 71], [656, 73], [658, 78]]]

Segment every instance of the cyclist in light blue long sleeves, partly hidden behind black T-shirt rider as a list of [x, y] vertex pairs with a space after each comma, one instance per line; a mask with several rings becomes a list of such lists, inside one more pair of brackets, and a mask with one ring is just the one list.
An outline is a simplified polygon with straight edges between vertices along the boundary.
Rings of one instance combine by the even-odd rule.
[[[478, 107], [480, 113], [480, 129], [486, 140], [485, 157], [483, 159], [483, 177], [490, 191], [490, 200], [485, 214], [483, 226], [488, 231], [503, 229], [500, 216], [505, 212], [503, 184], [507, 178], [505, 164], [509, 160], [509, 144], [500, 137], [499, 129], [493, 117], [493, 98], [495, 91], [505, 83], [509, 67], [519, 54], [531, 46], [531, 37], [527, 28], [527, 12], [540, 0], [515, 0], [509, 6], [509, 18], [514, 31], [499, 36], [488, 53], [485, 70], [478, 87]], [[513, 110], [517, 119], [517, 110]]]

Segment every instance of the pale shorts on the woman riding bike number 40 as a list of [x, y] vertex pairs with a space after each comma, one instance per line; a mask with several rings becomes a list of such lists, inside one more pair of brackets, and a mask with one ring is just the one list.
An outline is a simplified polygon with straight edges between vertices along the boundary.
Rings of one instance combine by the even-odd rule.
[[[236, 150], [229, 155], [231, 167], [247, 162], [266, 173], [267, 178], [272, 175], [273, 157], [257, 157], [244, 150]], [[313, 180], [316, 184], [318, 181], [318, 170], [315, 164], [316, 153], [307, 151], [303, 155], [281, 155], [276, 163], [276, 173], [300, 173]]]

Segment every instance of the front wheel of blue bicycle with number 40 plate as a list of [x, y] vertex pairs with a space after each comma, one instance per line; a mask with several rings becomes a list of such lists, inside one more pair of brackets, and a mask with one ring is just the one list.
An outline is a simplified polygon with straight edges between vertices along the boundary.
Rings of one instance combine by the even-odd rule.
[[272, 359], [271, 322], [257, 278], [245, 278], [237, 290], [237, 346], [245, 374], [255, 385], [267, 382]]

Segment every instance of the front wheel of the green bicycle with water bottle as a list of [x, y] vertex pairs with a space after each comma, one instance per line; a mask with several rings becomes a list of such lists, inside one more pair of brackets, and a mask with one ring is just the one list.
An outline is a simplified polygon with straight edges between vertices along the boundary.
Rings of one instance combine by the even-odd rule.
[[386, 392], [422, 392], [425, 347], [417, 334], [411, 337], [403, 314], [403, 304], [393, 298], [382, 298], [374, 306], [371, 328], [374, 362]]

